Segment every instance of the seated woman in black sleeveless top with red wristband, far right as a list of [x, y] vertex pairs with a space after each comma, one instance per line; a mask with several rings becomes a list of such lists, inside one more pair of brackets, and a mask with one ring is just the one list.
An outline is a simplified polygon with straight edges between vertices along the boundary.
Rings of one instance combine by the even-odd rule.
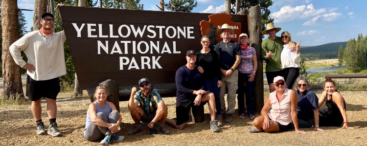
[[348, 126], [346, 118], [345, 100], [339, 91], [335, 90], [335, 82], [327, 76], [323, 83], [321, 97], [319, 99], [319, 109], [325, 102], [327, 109], [320, 110], [320, 126], [332, 126], [352, 129]]

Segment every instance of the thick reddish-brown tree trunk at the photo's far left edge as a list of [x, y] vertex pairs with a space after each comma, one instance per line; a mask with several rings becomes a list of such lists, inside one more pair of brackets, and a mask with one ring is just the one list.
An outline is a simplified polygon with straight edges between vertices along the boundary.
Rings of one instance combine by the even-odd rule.
[[17, 0], [1, 0], [2, 27], [2, 76], [3, 92], [6, 99], [24, 98], [21, 68], [10, 55], [9, 46], [18, 39], [18, 4]]

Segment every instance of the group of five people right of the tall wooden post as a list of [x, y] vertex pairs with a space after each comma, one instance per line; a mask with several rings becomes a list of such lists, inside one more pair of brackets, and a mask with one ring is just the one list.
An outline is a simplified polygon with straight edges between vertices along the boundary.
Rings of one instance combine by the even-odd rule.
[[[261, 110], [261, 115], [253, 121], [250, 132], [282, 132], [295, 128], [297, 133], [306, 134], [299, 128], [320, 127], [343, 124], [350, 128], [345, 112], [343, 96], [335, 90], [335, 82], [327, 77], [320, 99], [311, 90], [307, 79], [299, 76], [299, 43], [291, 41], [285, 31], [281, 37], [276, 33], [281, 28], [267, 24], [263, 35], [268, 35], [262, 44], [262, 58], [266, 61], [266, 76], [270, 88], [269, 98]], [[296, 48], [296, 50], [295, 50]], [[293, 89], [293, 90], [292, 90]], [[334, 98], [332, 98], [334, 96]], [[319, 110], [325, 103], [327, 109]], [[271, 110], [270, 110], [271, 108]]]

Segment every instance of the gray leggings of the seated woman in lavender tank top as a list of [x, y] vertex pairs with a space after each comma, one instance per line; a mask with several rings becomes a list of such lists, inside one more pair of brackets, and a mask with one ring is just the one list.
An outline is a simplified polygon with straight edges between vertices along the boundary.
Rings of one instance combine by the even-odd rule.
[[[101, 118], [106, 123], [115, 124], [120, 117], [120, 113], [117, 110], [113, 110], [108, 117], [103, 112], [98, 112], [97, 117]], [[97, 141], [105, 138], [106, 135], [112, 135], [113, 133], [107, 127], [96, 126], [91, 123], [86, 129], [86, 133], [84, 135], [85, 139], [88, 141]]]

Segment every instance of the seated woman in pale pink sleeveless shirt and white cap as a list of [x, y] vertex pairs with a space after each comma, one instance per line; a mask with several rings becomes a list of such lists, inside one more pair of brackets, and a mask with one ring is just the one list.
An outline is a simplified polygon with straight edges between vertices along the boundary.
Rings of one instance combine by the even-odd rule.
[[[273, 83], [275, 91], [270, 93], [261, 110], [261, 115], [253, 120], [255, 127], [250, 128], [249, 131], [251, 133], [288, 131], [291, 129], [293, 121], [296, 132], [306, 134], [305, 131], [298, 129], [296, 92], [286, 88], [282, 76], [276, 76]], [[269, 110], [270, 108], [272, 110]]]

